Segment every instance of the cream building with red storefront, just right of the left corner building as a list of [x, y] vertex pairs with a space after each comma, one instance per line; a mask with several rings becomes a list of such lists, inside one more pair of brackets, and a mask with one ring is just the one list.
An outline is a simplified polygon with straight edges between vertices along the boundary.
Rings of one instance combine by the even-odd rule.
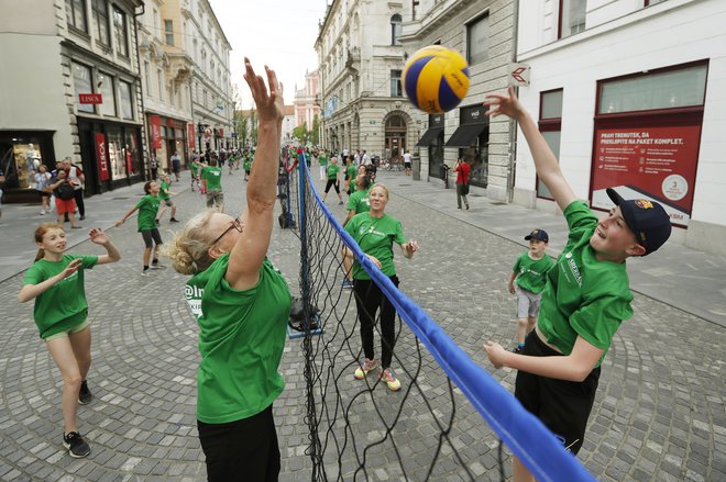
[[178, 1], [147, 0], [139, 26], [144, 121], [148, 157], [170, 171], [177, 153], [186, 162], [194, 148], [196, 126], [191, 114], [191, 71], [185, 24]]

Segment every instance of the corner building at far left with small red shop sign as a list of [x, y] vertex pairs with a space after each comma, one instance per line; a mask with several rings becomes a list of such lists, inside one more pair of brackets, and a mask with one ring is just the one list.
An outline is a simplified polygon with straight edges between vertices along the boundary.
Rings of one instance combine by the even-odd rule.
[[[70, 156], [92, 195], [144, 179], [135, 18], [140, 0], [0, 1], [0, 159], [6, 192], [34, 194]], [[32, 11], [33, 15], [28, 15]], [[12, 200], [12, 199], [11, 199]]]

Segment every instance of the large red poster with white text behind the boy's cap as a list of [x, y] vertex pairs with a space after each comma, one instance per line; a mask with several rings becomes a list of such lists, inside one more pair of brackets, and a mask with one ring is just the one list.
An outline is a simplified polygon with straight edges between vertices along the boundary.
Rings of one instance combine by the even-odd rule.
[[693, 206], [701, 125], [595, 131], [593, 206], [610, 209], [606, 188], [625, 199], [660, 202], [675, 225]]

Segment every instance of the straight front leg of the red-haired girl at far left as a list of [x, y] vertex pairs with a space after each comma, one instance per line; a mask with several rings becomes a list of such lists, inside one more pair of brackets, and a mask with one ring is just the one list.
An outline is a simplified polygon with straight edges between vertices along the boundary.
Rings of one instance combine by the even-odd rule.
[[78, 431], [78, 391], [80, 390], [80, 370], [74, 354], [70, 339], [67, 336], [51, 339], [46, 343], [53, 361], [61, 370], [63, 377], [63, 395], [61, 406], [63, 410], [63, 426], [66, 434]]

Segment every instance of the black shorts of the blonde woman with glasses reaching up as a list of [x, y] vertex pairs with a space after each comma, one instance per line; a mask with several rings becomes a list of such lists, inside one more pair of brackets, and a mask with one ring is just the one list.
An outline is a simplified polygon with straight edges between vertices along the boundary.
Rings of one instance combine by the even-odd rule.
[[249, 418], [227, 424], [197, 421], [197, 429], [210, 482], [277, 480], [279, 447], [272, 405]]

